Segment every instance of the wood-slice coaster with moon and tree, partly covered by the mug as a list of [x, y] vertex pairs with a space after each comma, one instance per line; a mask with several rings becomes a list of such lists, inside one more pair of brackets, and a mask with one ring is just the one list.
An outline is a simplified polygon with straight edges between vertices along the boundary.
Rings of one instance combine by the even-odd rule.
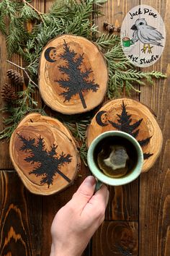
[[158, 123], [148, 109], [130, 98], [118, 98], [107, 102], [91, 120], [86, 144], [110, 130], [127, 132], [138, 140], [143, 149], [143, 172], [148, 171], [161, 153], [163, 137]]

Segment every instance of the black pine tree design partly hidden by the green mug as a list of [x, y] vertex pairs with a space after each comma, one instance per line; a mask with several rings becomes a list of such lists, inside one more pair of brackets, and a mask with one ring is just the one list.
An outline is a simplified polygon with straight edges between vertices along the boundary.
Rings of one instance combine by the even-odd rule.
[[[126, 106], [124, 101], [122, 101], [122, 113], [121, 115], [117, 114], [117, 116], [119, 117], [119, 119], [117, 119], [118, 124], [115, 123], [114, 121], [110, 121], [109, 123], [112, 124], [112, 127], [115, 127], [116, 129], [122, 131], [122, 132], [127, 132], [129, 135], [132, 135], [133, 137], [137, 137], [138, 133], [139, 133], [139, 129], [137, 129], [141, 122], [143, 121], [143, 119], [140, 119], [138, 121], [136, 121], [134, 124], [130, 124], [132, 119], [130, 114], [128, 114], [128, 112], [126, 111]], [[150, 142], [151, 137], [147, 137], [144, 140], [138, 140], [139, 144], [141, 147], [148, 145], [148, 142]], [[153, 155], [153, 153], [143, 153], [143, 158], [147, 159], [150, 158], [150, 156]]]

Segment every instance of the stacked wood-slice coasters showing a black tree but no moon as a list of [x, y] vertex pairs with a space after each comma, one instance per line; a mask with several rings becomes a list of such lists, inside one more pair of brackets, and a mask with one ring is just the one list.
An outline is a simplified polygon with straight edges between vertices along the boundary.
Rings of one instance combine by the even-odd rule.
[[39, 195], [65, 189], [80, 168], [79, 153], [68, 129], [57, 119], [36, 113], [20, 121], [9, 153], [25, 187]]

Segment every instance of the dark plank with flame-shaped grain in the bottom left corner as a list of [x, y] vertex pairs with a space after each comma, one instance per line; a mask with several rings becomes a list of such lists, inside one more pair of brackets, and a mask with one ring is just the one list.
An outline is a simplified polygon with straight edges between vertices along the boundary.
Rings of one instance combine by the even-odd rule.
[[0, 255], [41, 255], [42, 197], [24, 189], [15, 171], [1, 171], [0, 198]]

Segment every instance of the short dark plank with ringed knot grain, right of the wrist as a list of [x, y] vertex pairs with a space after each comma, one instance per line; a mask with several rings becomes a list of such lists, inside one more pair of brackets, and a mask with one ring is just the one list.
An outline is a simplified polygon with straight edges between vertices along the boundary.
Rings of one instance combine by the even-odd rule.
[[138, 223], [104, 221], [92, 239], [92, 256], [138, 255]]

